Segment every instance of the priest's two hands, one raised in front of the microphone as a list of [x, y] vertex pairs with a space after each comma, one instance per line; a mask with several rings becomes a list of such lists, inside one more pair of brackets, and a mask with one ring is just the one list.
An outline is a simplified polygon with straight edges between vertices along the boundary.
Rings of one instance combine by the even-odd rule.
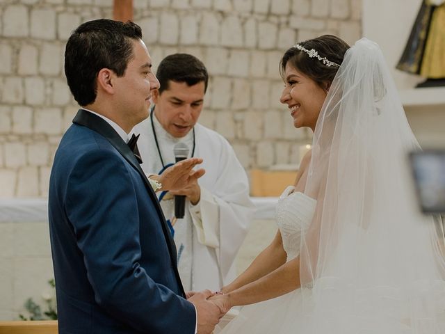
[[162, 184], [161, 191], [168, 190], [172, 195], [184, 195], [193, 205], [201, 198], [201, 189], [197, 179], [204, 175], [205, 170], [193, 168], [202, 163], [201, 158], [190, 158], [179, 161], [166, 168], [161, 175], [151, 175], [150, 178]]

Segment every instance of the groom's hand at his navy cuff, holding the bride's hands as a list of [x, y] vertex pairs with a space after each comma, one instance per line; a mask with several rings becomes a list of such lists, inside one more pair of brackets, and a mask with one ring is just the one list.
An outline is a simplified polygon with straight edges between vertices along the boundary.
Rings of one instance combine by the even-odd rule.
[[220, 321], [220, 309], [207, 299], [213, 296], [210, 290], [202, 292], [189, 292], [191, 295], [187, 300], [193, 303], [197, 313], [197, 334], [210, 334], [215, 329], [216, 324]]

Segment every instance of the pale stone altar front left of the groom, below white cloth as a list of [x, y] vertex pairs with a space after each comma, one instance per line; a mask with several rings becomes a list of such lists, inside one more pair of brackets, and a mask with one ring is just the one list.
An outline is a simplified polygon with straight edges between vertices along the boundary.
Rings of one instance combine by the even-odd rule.
[[46, 310], [42, 295], [54, 298], [47, 222], [0, 222], [0, 321], [29, 317], [27, 299]]

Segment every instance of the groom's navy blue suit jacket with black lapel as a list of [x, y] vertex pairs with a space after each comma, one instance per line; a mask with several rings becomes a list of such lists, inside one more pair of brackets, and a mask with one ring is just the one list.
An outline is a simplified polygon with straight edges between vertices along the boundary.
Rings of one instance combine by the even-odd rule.
[[193, 334], [175, 243], [133, 152], [102, 118], [81, 109], [73, 122], [49, 184], [59, 333]]

